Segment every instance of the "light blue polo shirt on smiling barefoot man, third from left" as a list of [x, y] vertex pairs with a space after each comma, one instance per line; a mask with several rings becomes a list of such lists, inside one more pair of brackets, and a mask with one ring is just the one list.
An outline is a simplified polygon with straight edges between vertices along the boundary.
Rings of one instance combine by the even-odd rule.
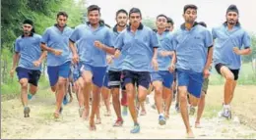
[[73, 42], [79, 41], [80, 50], [78, 55], [80, 61], [94, 67], [106, 67], [106, 52], [96, 48], [95, 41], [100, 41], [108, 47], [113, 47], [111, 39], [111, 31], [104, 24], [94, 28], [89, 23], [78, 25], [70, 40]]

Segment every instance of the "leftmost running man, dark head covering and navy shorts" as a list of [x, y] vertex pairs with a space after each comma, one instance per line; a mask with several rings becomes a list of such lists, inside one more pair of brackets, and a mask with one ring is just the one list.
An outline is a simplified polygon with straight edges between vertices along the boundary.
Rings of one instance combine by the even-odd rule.
[[[40, 49], [41, 36], [34, 33], [31, 20], [23, 23], [23, 34], [16, 39], [13, 68], [10, 71], [13, 77], [15, 70], [21, 84], [21, 99], [24, 106], [24, 117], [30, 117], [31, 109], [28, 107], [29, 94], [33, 96], [37, 91], [37, 83], [41, 73], [41, 62], [46, 56], [45, 51]], [[17, 67], [17, 63], [18, 67]]]

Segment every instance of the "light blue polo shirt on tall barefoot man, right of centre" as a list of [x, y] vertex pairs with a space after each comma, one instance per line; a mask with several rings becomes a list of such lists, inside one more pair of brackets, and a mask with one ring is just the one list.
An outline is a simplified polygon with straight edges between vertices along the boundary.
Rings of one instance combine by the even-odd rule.
[[174, 33], [173, 45], [176, 51], [176, 68], [203, 72], [208, 55], [208, 48], [213, 46], [211, 31], [197, 23], [187, 30], [184, 23]]

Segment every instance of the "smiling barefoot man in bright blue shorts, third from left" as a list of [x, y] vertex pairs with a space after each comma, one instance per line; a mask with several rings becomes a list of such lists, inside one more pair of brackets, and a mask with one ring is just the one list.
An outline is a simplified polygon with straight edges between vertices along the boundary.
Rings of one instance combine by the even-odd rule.
[[[88, 87], [93, 83], [93, 106], [90, 117], [90, 130], [96, 130], [95, 116], [98, 112], [99, 95], [103, 85], [106, 72], [106, 53], [114, 54], [112, 45], [111, 31], [100, 20], [100, 8], [96, 5], [88, 7], [88, 23], [80, 24], [76, 27], [70, 37], [70, 48], [73, 53], [74, 63], [83, 66], [82, 76], [85, 80], [84, 94], [87, 94], [86, 101], [89, 101]], [[79, 41], [81, 50], [76, 51], [74, 43]], [[89, 112], [89, 105], [88, 109]]]

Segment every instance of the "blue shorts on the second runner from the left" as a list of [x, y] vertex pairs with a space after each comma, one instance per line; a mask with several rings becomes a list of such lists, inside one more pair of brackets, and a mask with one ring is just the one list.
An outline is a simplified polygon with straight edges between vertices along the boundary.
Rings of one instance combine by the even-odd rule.
[[47, 72], [49, 75], [50, 86], [54, 86], [59, 77], [68, 78], [70, 73], [70, 64], [71, 62], [67, 62], [61, 66], [56, 67], [47, 67]]

